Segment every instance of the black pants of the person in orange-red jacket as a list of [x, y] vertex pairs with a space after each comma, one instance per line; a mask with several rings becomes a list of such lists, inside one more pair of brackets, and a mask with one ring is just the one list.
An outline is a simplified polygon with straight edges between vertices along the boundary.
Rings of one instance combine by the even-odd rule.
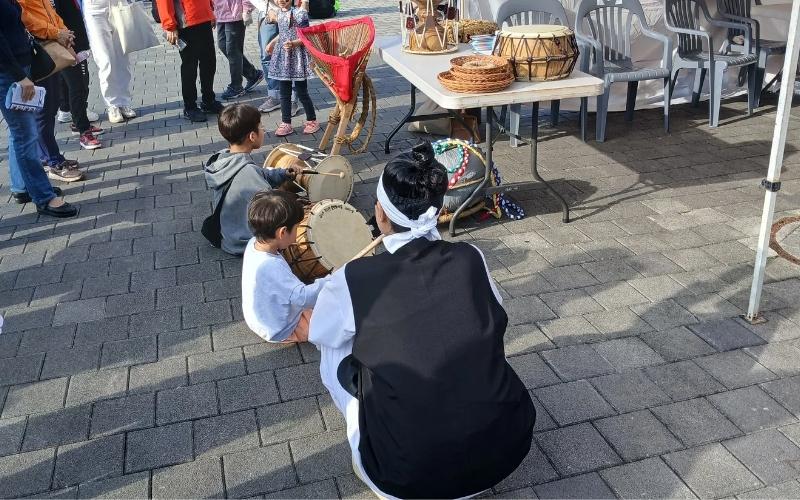
[[200, 67], [200, 93], [203, 104], [212, 104], [214, 73], [217, 72], [217, 54], [214, 49], [214, 30], [211, 23], [203, 23], [178, 30], [178, 37], [186, 42], [181, 52], [181, 88], [183, 107], [197, 108], [197, 68]]

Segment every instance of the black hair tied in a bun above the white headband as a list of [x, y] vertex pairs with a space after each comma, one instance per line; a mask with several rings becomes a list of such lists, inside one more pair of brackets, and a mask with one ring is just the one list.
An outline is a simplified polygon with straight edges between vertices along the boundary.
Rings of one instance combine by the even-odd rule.
[[[386, 164], [383, 188], [389, 201], [413, 220], [431, 205], [442, 208], [447, 191], [447, 170], [436, 160], [431, 143], [425, 141]], [[394, 223], [392, 228], [395, 232], [408, 230]]]

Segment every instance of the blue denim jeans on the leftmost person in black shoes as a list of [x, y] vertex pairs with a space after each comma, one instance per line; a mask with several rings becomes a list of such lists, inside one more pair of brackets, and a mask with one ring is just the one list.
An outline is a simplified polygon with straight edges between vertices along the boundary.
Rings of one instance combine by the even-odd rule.
[[[29, 68], [25, 68], [26, 71]], [[0, 72], [0, 96], [5, 96], [14, 78]], [[57, 102], [57, 101], [56, 101]], [[14, 111], [5, 107], [5, 99], [0, 103], [0, 111], [8, 126], [8, 168], [11, 178], [11, 192], [25, 191], [38, 206], [44, 206], [56, 197], [47, 174], [39, 160], [39, 129], [36, 114]]]

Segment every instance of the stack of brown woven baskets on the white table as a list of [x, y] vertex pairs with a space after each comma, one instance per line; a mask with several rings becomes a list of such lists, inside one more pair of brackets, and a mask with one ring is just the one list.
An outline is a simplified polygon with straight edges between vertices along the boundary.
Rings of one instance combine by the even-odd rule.
[[439, 83], [462, 94], [499, 92], [514, 82], [508, 59], [497, 56], [463, 56], [450, 60], [450, 70], [439, 73]]

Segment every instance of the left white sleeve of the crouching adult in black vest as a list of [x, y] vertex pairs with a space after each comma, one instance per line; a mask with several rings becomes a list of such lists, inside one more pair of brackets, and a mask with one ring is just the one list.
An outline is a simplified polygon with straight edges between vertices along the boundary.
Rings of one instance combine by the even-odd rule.
[[331, 275], [317, 298], [308, 334], [308, 341], [314, 345], [338, 349], [356, 334], [353, 303], [344, 269]]

